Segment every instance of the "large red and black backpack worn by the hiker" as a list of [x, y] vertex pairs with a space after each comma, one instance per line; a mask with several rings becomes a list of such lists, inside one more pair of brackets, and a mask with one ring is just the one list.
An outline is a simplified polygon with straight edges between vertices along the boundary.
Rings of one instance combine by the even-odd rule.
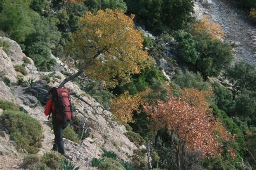
[[53, 103], [55, 110], [53, 110], [52, 118], [59, 122], [71, 121], [73, 113], [68, 89], [58, 89], [58, 95], [53, 97]]

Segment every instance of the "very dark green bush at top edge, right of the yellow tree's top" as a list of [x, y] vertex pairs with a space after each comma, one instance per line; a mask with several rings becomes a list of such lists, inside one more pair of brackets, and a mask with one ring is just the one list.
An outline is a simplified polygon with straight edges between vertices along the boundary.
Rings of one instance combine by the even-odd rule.
[[181, 29], [190, 21], [193, 2], [190, 0], [125, 0], [127, 12], [134, 13], [138, 22], [147, 30], [161, 33], [163, 30]]

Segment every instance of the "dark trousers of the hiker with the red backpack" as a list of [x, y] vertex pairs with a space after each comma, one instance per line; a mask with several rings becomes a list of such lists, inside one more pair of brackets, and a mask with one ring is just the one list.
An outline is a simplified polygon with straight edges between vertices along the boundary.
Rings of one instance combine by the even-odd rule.
[[64, 155], [65, 148], [64, 148], [64, 144], [63, 144], [62, 131], [66, 128], [66, 126], [69, 125], [69, 121], [64, 121], [62, 123], [52, 121], [52, 125], [53, 125], [53, 132], [54, 132], [54, 135], [55, 135], [52, 150], [58, 151], [60, 154]]

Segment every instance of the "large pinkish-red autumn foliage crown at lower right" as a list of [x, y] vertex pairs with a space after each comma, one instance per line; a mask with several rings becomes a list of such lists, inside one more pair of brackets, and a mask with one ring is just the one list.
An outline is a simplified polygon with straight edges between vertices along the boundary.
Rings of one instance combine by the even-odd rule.
[[157, 107], [147, 104], [144, 108], [156, 123], [156, 129], [166, 127], [177, 134], [179, 139], [186, 143], [188, 150], [200, 150], [203, 157], [217, 155], [221, 143], [214, 133], [216, 120], [212, 114], [205, 114], [202, 110], [173, 97], [166, 103], [158, 101]]

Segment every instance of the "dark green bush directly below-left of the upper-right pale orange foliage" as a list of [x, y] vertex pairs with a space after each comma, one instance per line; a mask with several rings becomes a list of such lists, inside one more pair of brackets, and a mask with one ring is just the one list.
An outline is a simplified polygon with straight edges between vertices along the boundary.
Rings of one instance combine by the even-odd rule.
[[178, 42], [178, 55], [181, 60], [195, 65], [198, 54], [196, 42], [193, 40], [192, 35], [184, 30], [179, 30], [176, 33], [175, 39]]

